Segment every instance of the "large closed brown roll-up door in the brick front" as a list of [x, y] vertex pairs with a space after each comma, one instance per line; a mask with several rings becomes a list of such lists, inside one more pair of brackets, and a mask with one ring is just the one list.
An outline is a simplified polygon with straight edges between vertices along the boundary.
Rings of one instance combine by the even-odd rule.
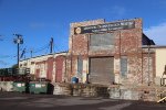
[[90, 58], [90, 81], [110, 85], [114, 82], [114, 57]]

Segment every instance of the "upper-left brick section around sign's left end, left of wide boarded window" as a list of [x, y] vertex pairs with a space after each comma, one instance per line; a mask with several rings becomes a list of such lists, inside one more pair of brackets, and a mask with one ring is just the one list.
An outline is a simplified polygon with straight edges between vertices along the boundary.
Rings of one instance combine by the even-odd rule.
[[70, 24], [71, 29], [70, 29], [69, 52], [72, 55], [87, 54], [89, 37], [86, 34], [74, 35], [74, 28], [86, 26], [86, 25], [96, 25], [96, 24], [102, 24], [102, 23], [104, 23], [103, 19], [71, 23]]

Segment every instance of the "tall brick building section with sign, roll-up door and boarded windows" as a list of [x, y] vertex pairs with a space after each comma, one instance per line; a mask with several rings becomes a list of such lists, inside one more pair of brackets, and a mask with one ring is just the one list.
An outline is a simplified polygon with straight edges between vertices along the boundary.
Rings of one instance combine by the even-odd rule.
[[142, 19], [71, 23], [71, 76], [92, 84], [153, 84], [155, 53], [143, 45], [155, 43], [143, 33]]

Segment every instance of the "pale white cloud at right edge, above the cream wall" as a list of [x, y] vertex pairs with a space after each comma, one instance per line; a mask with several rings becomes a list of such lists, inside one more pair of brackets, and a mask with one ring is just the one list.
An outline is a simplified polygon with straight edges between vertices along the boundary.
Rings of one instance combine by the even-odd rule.
[[144, 30], [144, 33], [157, 45], [166, 45], [166, 22]]

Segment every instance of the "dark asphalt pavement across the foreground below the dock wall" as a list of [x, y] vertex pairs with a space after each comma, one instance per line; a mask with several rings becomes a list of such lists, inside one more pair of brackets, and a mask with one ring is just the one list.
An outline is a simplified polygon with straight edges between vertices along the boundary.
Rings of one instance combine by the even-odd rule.
[[166, 110], [166, 103], [0, 92], [0, 110]]

